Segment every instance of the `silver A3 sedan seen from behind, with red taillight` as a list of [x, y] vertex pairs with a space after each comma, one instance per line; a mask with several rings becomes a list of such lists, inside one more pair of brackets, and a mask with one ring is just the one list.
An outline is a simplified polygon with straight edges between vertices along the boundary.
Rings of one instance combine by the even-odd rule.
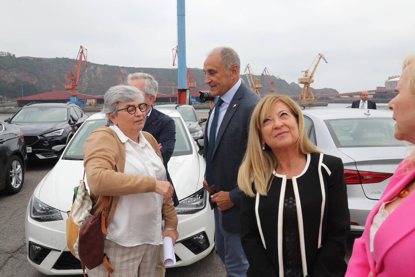
[[303, 110], [310, 140], [343, 161], [352, 232], [363, 232], [369, 212], [399, 163], [410, 154], [410, 143], [393, 135], [392, 114], [366, 109]]

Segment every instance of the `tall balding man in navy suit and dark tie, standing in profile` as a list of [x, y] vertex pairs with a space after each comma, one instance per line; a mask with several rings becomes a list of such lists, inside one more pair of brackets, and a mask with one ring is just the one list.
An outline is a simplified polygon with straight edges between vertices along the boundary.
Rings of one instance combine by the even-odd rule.
[[239, 79], [240, 65], [237, 52], [230, 47], [212, 49], [203, 65], [211, 95], [219, 96], [205, 126], [203, 186], [210, 194], [216, 249], [228, 277], [246, 276], [249, 266], [239, 237], [241, 191], [237, 177], [251, 113], [261, 99]]

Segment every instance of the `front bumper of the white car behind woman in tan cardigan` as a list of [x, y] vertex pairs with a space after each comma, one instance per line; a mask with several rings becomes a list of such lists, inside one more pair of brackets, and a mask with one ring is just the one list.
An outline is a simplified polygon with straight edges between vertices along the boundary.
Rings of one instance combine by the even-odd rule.
[[[207, 199], [206, 199], [207, 200]], [[66, 245], [66, 219], [68, 214], [62, 212], [63, 220], [51, 222], [34, 221], [29, 216], [30, 201], [26, 211], [25, 238], [27, 260], [39, 272], [46, 275], [76, 275], [83, 274], [81, 263], [73, 257]], [[178, 215], [179, 238], [174, 245], [176, 265], [179, 267], [190, 265], [207, 256], [215, 246], [215, 220], [209, 203], [205, 208], [194, 214]], [[199, 251], [189, 245], [189, 238], [203, 234], [208, 242], [207, 248]], [[39, 245], [44, 248], [43, 256], [36, 262], [29, 257], [30, 245]], [[187, 246], [186, 246], [187, 245]], [[43, 249], [42, 249], [43, 250]], [[195, 254], [194, 252], [198, 252]]]

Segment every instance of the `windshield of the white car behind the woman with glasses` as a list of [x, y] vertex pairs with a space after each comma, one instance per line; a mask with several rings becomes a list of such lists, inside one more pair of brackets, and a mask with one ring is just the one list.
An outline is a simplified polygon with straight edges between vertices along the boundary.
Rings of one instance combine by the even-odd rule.
[[[176, 144], [172, 156], [189, 155], [193, 153], [190, 146], [190, 140], [186, 133], [186, 127], [183, 125], [180, 118], [174, 118], [176, 124]], [[107, 124], [105, 118], [97, 120], [87, 120], [76, 132], [75, 136], [66, 147], [63, 153], [63, 159], [83, 159], [83, 145], [88, 138], [90, 132]]]

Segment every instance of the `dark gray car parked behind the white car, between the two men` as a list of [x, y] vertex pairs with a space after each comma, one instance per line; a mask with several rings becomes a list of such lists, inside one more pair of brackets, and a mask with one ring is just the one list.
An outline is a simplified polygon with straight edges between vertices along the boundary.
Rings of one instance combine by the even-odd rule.
[[157, 105], [154, 106], [155, 109], [161, 110], [177, 110], [180, 113], [181, 117], [185, 121], [187, 128], [190, 132], [190, 135], [193, 137], [193, 140], [203, 139], [203, 128], [202, 123], [207, 120], [207, 118], [198, 118], [195, 108], [191, 105]]

